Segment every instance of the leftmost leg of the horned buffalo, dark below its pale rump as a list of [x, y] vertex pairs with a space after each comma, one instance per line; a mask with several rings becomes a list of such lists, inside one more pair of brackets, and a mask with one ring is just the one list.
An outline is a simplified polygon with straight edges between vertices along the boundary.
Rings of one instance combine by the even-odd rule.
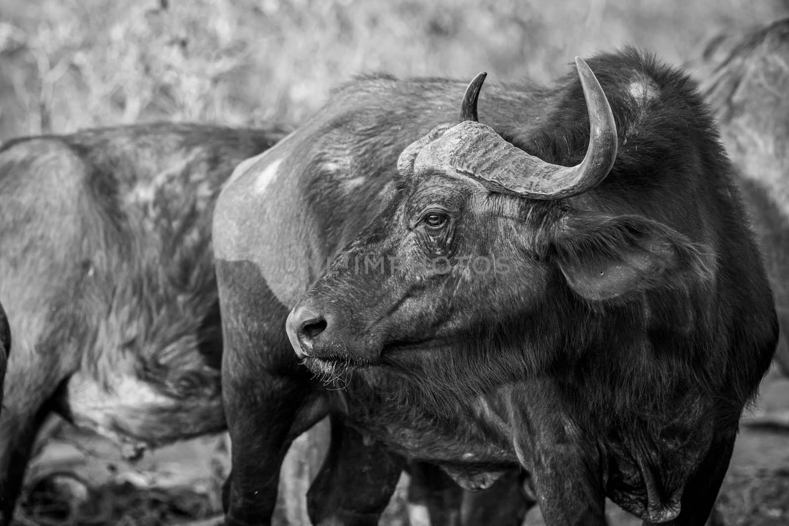
[[325, 416], [285, 333], [290, 309], [248, 262], [216, 262], [222, 311], [222, 402], [231, 472], [223, 504], [227, 526], [271, 524], [282, 461], [290, 443]]

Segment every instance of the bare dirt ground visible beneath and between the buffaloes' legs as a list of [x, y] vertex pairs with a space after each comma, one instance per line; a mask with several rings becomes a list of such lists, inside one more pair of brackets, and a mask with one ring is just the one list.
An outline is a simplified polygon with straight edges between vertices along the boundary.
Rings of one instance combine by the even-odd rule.
[[[226, 436], [200, 438], [147, 453], [129, 463], [103, 439], [53, 423], [55, 437], [28, 473], [28, 494], [17, 513], [19, 526], [66, 524], [218, 524], [221, 483], [229, 470]], [[789, 524], [789, 379], [776, 372], [762, 382], [759, 404], [743, 418], [731, 467], [718, 498], [715, 526]], [[297, 453], [297, 450], [301, 453]], [[320, 451], [296, 445], [282, 475], [279, 523], [303, 513], [303, 470], [320, 461]], [[294, 482], [296, 481], [296, 482]], [[381, 524], [406, 526], [403, 477]], [[525, 524], [544, 524], [533, 509]], [[609, 502], [611, 526], [640, 520]], [[413, 525], [417, 526], [417, 525]]]

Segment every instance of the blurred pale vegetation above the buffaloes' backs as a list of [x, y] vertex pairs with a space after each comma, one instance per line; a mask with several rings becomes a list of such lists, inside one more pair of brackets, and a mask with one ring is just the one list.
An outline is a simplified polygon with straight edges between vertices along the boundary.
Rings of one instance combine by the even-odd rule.
[[178, 119], [297, 124], [357, 73], [551, 80], [630, 43], [688, 62], [787, 0], [2, 0], [0, 140]]

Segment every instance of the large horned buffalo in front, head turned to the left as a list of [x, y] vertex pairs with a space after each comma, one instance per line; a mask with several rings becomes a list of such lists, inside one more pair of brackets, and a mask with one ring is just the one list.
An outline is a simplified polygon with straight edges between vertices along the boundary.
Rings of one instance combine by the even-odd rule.
[[546, 524], [605, 524], [606, 496], [704, 524], [775, 349], [767, 278], [695, 85], [634, 50], [577, 69], [480, 118], [484, 76], [361, 78], [237, 167], [225, 524], [270, 524], [327, 414], [316, 524], [376, 524], [406, 460], [469, 490], [521, 468]]

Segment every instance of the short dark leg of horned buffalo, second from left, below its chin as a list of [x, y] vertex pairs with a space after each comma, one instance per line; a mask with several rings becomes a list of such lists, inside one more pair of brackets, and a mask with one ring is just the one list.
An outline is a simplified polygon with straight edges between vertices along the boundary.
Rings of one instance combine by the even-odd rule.
[[375, 526], [387, 507], [403, 468], [400, 457], [338, 417], [331, 419], [331, 446], [307, 494], [312, 524]]

